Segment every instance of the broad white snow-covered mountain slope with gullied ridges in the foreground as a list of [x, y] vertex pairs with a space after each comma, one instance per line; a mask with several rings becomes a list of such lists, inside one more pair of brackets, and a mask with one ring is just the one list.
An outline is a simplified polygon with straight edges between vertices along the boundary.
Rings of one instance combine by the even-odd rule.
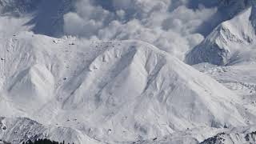
[[2, 116], [110, 143], [255, 121], [236, 94], [144, 42], [22, 33], [0, 39], [0, 50]]

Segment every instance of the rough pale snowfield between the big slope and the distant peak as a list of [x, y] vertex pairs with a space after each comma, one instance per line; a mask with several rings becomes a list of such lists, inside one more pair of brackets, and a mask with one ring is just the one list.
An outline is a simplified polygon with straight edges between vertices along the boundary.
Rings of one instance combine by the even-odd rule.
[[202, 68], [202, 65], [205, 64], [200, 65], [196, 66], [198, 70], [210, 75], [230, 90], [234, 90], [236, 94], [242, 96], [251, 95], [252, 97], [256, 94], [255, 64], [239, 66], [205, 66], [204, 68]]

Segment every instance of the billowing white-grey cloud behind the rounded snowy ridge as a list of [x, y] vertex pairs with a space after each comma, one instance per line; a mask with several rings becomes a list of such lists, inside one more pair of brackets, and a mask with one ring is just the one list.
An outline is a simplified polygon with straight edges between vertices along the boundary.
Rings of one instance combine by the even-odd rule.
[[101, 40], [138, 39], [183, 59], [204, 39], [200, 26], [217, 13], [214, 6], [189, 5], [189, 0], [78, 0], [74, 12], [64, 15], [64, 31]]

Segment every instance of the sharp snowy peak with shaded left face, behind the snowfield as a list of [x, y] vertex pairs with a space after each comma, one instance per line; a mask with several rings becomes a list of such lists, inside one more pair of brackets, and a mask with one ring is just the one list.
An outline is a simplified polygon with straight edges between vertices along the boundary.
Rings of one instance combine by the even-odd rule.
[[255, 40], [255, 7], [250, 7], [229, 21], [222, 22], [198, 46], [186, 54], [190, 65], [210, 62], [227, 65], [241, 61], [239, 54], [253, 50]]

